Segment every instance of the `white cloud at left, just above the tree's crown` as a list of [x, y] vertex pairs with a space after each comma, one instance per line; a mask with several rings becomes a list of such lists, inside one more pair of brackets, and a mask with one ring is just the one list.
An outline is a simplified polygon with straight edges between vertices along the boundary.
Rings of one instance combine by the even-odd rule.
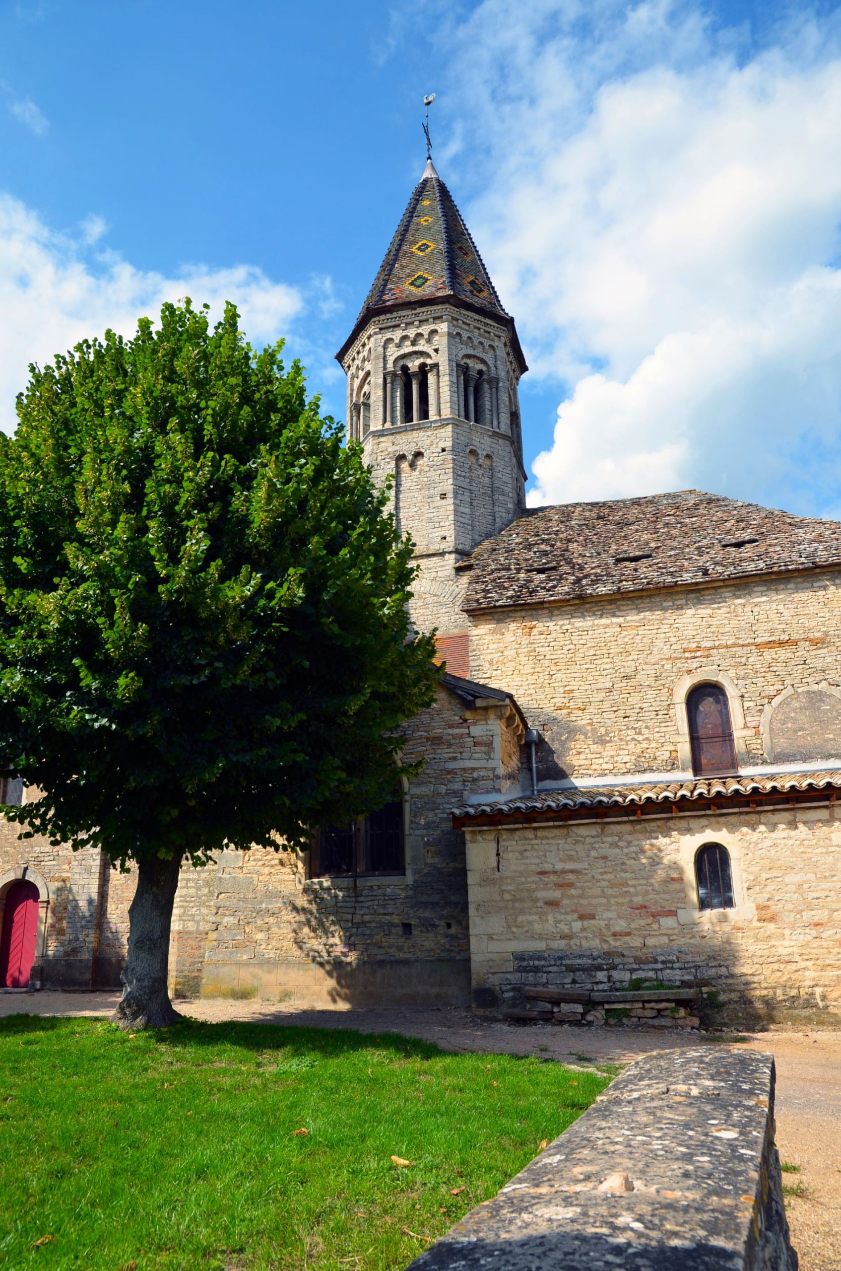
[[114, 252], [88, 250], [104, 231], [89, 217], [79, 240], [50, 230], [22, 202], [0, 194], [0, 427], [15, 426], [14, 400], [30, 362], [44, 364], [107, 327], [132, 334], [137, 318], [156, 318], [165, 300], [191, 296], [221, 315], [236, 304], [253, 342], [277, 339], [301, 311], [301, 292], [253, 266], [189, 266], [177, 277], [136, 269]]

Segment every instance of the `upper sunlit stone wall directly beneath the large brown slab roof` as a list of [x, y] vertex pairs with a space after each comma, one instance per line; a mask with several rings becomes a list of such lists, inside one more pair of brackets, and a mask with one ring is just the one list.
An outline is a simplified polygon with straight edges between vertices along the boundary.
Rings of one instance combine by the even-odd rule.
[[841, 572], [471, 615], [470, 674], [541, 730], [546, 779], [680, 769], [673, 689], [719, 672], [742, 758], [762, 764], [775, 698], [841, 684]]

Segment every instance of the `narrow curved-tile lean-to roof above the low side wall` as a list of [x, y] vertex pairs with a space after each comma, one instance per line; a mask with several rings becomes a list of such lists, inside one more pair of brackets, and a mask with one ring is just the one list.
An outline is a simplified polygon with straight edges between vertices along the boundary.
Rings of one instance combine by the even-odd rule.
[[841, 789], [841, 771], [775, 773], [760, 777], [708, 777], [691, 782], [662, 782], [640, 785], [593, 785], [584, 789], [544, 791], [518, 794], [492, 803], [462, 803], [452, 815], [469, 821], [484, 816], [534, 816], [607, 807], [640, 807], [644, 803], [680, 803], [728, 799], [751, 794], [788, 794], [804, 791]]

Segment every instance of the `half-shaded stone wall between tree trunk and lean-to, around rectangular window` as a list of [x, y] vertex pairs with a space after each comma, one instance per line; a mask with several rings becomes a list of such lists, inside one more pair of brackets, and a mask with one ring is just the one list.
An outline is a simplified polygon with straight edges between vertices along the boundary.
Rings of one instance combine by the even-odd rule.
[[[468, 709], [441, 688], [408, 727], [426, 756], [408, 792], [405, 877], [307, 878], [306, 859], [224, 852], [184, 871], [173, 932], [175, 991], [354, 1005], [469, 1000], [464, 836], [450, 808], [518, 777], [504, 703]], [[199, 949], [206, 953], [199, 965]]]

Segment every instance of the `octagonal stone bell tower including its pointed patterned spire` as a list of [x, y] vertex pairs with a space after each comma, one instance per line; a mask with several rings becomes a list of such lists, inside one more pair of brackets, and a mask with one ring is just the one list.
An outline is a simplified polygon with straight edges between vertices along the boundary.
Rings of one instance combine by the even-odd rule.
[[[517, 385], [527, 367], [432, 160], [337, 357], [348, 437], [376, 475], [394, 478], [398, 526], [415, 543], [413, 622], [437, 627], [448, 665], [466, 674], [457, 566], [525, 506]], [[465, 658], [452, 644], [460, 636]]]

